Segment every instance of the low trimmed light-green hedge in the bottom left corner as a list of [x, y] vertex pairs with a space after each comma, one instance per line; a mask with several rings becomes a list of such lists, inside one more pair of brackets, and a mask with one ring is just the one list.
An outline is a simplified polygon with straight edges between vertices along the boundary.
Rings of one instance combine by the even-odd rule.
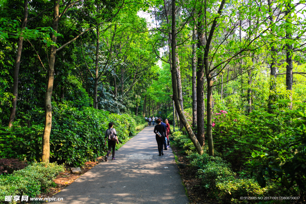
[[13, 174], [0, 175], [0, 201], [6, 195], [28, 195], [35, 197], [54, 185], [53, 179], [65, 170], [56, 163], [32, 163]]

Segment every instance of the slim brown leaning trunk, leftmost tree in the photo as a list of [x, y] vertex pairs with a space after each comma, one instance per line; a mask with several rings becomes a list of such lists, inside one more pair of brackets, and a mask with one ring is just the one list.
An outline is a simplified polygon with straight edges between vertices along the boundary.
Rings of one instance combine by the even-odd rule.
[[[25, 28], [27, 26], [27, 20], [28, 20], [28, 0], [24, 0], [24, 17], [21, 25], [22, 28]], [[18, 38], [17, 55], [15, 59], [14, 75], [13, 75], [13, 96], [15, 98], [12, 99], [12, 108], [11, 108], [11, 113], [9, 115], [9, 128], [12, 127], [16, 116], [16, 107], [17, 107], [17, 98], [18, 98], [18, 80], [19, 80], [18, 73], [20, 66], [22, 43], [23, 43], [23, 37]]]

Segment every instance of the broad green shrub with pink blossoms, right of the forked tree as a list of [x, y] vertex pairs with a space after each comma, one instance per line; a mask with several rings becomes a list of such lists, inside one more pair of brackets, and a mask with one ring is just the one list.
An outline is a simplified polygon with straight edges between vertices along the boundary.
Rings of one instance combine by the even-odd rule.
[[277, 143], [267, 142], [278, 134], [286, 134], [293, 126], [297, 111], [287, 110], [267, 113], [254, 110], [248, 116], [237, 109], [216, 112], [213, 115], [213, 139], [215, 150], [236, 168], [244, 167], [252, 151], [268, 150]]

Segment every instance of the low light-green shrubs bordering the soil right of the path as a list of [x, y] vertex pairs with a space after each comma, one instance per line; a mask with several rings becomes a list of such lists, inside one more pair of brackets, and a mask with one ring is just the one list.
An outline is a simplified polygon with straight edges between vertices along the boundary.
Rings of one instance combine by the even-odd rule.
[[[198, 169], [197, 177], [208, 192], [217, 192], [222, 203], [244, 203], [241, 196], [268, 196], [276, 186], [269, 184], [260, 187], [254, 179], [236, 174], [230, 169], [230, 164], [220, 157], [211, 157], [207, 153], [199, 155], [192, 153], [187, 157], [190, 167]], [[275, 191], [273, 192], [273, 195]], [[271, 196], [273, 196], [271, 195]], [[245, 200], [245, 203], [256, 203], [256, 200]]]

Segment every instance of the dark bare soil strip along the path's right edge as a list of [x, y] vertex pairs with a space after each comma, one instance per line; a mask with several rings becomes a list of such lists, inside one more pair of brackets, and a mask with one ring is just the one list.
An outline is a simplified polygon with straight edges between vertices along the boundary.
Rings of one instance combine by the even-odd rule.
[[188, 167], [190, 161], [186, 158], [187, 155], [185, 153], [181, 153], [181, 150], [175, 147], [174, 145], [172, 145], [171, 148], [177, 156], [181, 179], [186, 187], [190, 204], [219, 203], [214, 199], [214, 195], [208, 195], [205, 192], [205, 189], [203, 188], [203, 184], [201, 184], [200, 179], [196, 178], [196, 170], [193, 170]]

